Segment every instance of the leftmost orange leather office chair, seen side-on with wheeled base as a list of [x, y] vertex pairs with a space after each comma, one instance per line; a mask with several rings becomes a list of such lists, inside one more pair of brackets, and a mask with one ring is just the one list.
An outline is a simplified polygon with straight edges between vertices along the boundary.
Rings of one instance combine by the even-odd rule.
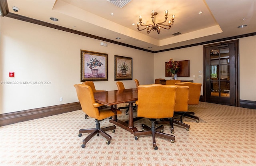
[[98, 108], [103, 105], [95, 102], [93, 91], [90, 86], [82, 85], [82, 84], [75, 84], [74, 87], [76, 88], [77, 97], [81, 104], [82, 110], [84, 111], [84, 113], [86, 113], [90, 117], [95, 118], [95, 122], [96, 122], [96, 128], [80, 129], [79, 130], [79, 135], [78, 135], [79, 137], [82, 136], [82, 133], [90, 132], [90, 134], [86, 138], [84, 138], [82, 148], [84, 148], [85, 144], [96, 134], [97, 134], [97, 136], [99, 134], [104, 136], [107, 139], [106, 143], [110, 144], [110, 140], [112, 138], [105, 131], [112, 130], [112, 132], [115, 132], [114, 129], [116, 128], [116, 126], [113, 125], [113, 126], [109, 126], [109, 127], [105, 127], [105, 128], [100, 128], [100, 120], [103, 120], [108, 117], [112, 117], [117, 114], [121, 114], [121, 111], [118, 109], [114, 109], [114, 108], [112, 110], [110, 107], [105, 108], [105, 109], [100, 109], [100, 111], [99, 111]]

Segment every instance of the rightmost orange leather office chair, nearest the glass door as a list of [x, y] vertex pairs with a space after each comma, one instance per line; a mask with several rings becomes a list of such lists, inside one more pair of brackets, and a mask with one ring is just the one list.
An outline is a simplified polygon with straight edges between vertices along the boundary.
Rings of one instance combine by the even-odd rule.
[[[191, 82], [183, 82], [183, 83], [175, 83], [175, 85], [182, 85], [182, 86], [188, 86], [189, 92], [188, 92], [188, 105], [198, 105], [200, 100], [200, 94], [201, 94], [201, 83], [191, 83]], [[196, 122], [199, 122], [199, 117], [194, 116], [194, 112], [180, 112], [175, 114], [182, 115], [182, 117], [190, 117], [192, 119], [196, 119]], [[181, 122], [182, 122], [181, 117]]]

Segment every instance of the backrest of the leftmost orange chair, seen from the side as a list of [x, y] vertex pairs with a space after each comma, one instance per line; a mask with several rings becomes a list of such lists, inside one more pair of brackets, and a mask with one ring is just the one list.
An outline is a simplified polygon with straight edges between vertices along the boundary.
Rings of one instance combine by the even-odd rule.
[[101, 104], [96, 103], [92, 88], [83, 84], [75, 84], [74, 87], [76, 88], [77, 97], [84, 113], [92, 118], [98, 119], [100, 113], [98, 107], [95, 106]]

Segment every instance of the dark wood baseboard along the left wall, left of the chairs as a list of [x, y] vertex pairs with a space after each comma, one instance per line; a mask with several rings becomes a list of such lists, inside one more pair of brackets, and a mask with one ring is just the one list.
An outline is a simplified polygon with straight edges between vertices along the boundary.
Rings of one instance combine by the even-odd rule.
[[80, 110], [79, 102], [0, 114], [0, 126]]

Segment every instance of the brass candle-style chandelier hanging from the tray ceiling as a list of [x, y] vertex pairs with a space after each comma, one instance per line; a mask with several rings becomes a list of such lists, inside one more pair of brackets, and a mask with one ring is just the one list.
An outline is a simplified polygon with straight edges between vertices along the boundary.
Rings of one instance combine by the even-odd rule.
[[[158, 34], [160, 34], [161, 28], [164, 28], [166, 30], [170, 30], [172, 24], [174, 23], [174, 16], [175, 15], [172, 15], [172, 21], [169, 20], [168, 24], [164, 24], [166, 22], [167, 18], [168, 18], [167, 17], [168, 16], [168, 10], [165, 10], [165, 18], [164, 18], [165, 20], [163, 22], [159, 22], [159, 23], [156, 24], [156, 15], [157, 15], [157, 13], [154, 12], [154, 10], [152, 10], [152, 14], [151, 14], [152, 17], [151, 18], [152, 18], [153, 24], [148, 24], [148, 25], [142, 25], [142, 22], [141, 22], [142, 21], [142, 17], [140, 16], [140, 18], [139, 18], [140, 22], [137, 22], [137, 29], [139, 31], [147, 29], [147, 33], [148, 34], [151, 32], [151, 30], [153, 30], [153, 31], [156, 30], [156, 32]], [[140, 30], [140, 26], [146, 27], [146, 28], [143, 28], [142, 30]]]

